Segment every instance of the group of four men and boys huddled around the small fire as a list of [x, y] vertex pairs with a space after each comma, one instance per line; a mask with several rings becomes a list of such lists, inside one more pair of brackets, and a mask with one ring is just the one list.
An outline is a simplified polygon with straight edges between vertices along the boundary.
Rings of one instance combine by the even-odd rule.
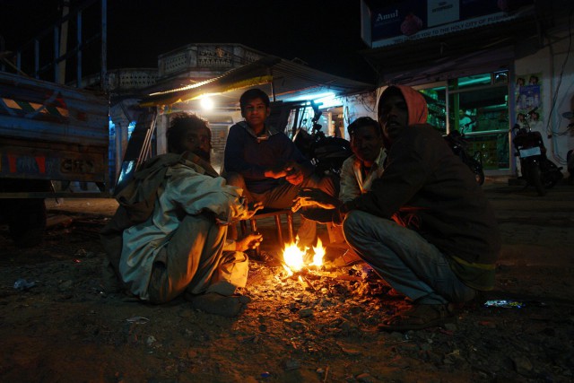
[[169, 152], [146, 161], [120, 192], [101, 235], [118, 287], [151, 303], [183, 295], [196, 309], [238, 315], [249, 300], [238, 293], [248, 279], [245, 252], [262, 238], [239, 238], [236, 223], [267, 207], [301, 209], [302, 246], [316, 238], [310, 212], [321, 209], [342, 226], [348, 246], [412, 303], [381, 329], [438, 326], [492, 288], [500, 250], [494, 213], [474, 175], [426, 123], [421, 93], [389, 86], [378, 121], [348, 126], [353, 155], [340, 185], [314, 174], [289, 137], [265, 123], [264, 91], [246, 91], [239, 104], [245, 121], [230, 127], [222, 177], [209, 162], [205, 121], [180, 115], [171, 118]]

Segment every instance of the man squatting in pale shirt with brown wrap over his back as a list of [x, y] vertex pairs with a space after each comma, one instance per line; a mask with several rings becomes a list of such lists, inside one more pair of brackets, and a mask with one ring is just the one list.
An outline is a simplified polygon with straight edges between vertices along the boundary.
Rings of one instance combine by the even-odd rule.
[[[236, 316], [248, 301], [237, 294], [248, 278], [244, 251], [257, 247], [261, 236], [230, 241], [227, 230], [260, 204], [248, 207], [242, 190], [213, 170], [211, 131], [203, 119], [172, 116], [167, 139], [168, 153], [145, 161], [118, 194], [109, 226], [122, 216], [140, 218], [102, 232], [110, 264], [121, 287], [140, 300], [161, 304], [183, 296], [196, 309]], [[114, 238], [106, 233], [119, 238], [107, 240]]]

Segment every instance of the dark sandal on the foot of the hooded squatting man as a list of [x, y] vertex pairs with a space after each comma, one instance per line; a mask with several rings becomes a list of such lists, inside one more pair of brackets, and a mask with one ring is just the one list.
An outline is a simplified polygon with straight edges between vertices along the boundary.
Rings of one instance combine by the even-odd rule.
[[455, 319], [454, 306], [415, 304], [378, 325], [380, 331], [409, 331], [444, 325]]

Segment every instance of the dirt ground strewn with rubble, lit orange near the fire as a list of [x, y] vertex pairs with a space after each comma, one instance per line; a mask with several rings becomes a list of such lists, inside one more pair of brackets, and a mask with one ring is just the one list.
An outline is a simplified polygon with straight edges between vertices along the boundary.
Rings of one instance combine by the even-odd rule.
[[[107, 294], [98, 232], [115, 201], [48, 201], [39, 247], [15, 248], [0, 227], [0, 381], [571, 382], [574, 187], [485, 190], [504, 241], [487, 298], [512, 304], [474, 303], [454, 324], [405, 334], [378, 332], [405, 302], [365, 265], [301, 283], [251, 264], [238, 318]], [[273, 222], [259, 228], [277, 253]], [[15, 289], [20, 278], [34, 285]]]

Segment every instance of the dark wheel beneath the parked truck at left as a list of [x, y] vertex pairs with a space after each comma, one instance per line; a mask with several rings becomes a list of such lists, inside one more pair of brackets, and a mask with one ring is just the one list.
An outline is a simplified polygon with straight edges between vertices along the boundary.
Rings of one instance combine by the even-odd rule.
[[13, 199], [8, 216], [10, 235], [16, 246], [31, 248], [39, 244], [46, 229], [43, 199]]

